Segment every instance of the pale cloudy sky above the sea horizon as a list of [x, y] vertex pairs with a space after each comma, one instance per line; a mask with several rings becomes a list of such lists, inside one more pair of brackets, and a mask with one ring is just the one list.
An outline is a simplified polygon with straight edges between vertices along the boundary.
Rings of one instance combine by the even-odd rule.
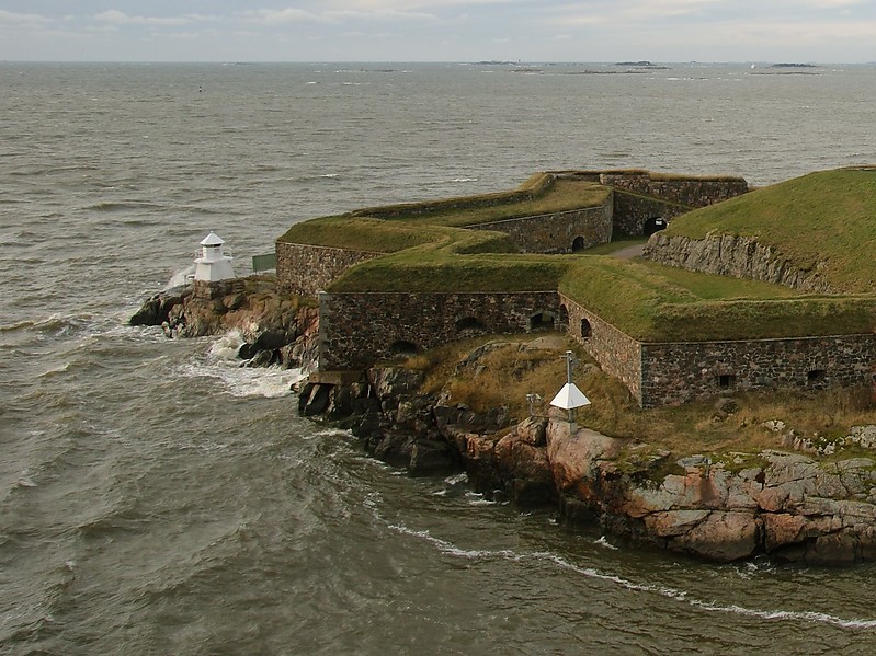
[[876, 0], [2, 0], [7, 61], [876, 61]]

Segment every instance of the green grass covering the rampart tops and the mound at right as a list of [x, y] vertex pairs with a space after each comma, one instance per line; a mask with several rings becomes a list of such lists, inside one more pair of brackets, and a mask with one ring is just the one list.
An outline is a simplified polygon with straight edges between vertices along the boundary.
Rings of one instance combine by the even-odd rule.
[[[520, 189], [359, 210], [294, 226], [280, 241], [385, 253], [329, 291], [558, 289], [644, 342], [854, 334], [876, 329], [876, 171], [814, 173], [692, 211], [672, 234], [732, 233], [818, 265], [847, 296], [692, 273], [611, 255], [515, 252], [501, 232], [462, 226], [602, 205], [611, 189], [533, 176]], [[842, 283], [842, 285], [840, 285]]]

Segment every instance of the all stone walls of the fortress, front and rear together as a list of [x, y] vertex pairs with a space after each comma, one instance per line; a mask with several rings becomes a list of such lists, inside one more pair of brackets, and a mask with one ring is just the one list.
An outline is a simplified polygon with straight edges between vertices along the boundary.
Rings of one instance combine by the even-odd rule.
[[[652, 180], [642, 172], [558, 173], [594, 176], [614, 187], [602, 207], [526, 217], [476, 229], [508, 232], [525, 252], [558, 253], [607, 242], [612, 231], [642, 234], [653, 216], [744, 193], [739, 179]], [[651, 195], [653, 194], [653, 195]], [[672, 214], [672, 212], [675, 214]], [[659, 212], [659, 214], [657, 214]], [[580, 243], [580, 242], [579, 242]], [[277, 243], [277, 284], [315, 296], [374, 253]], [[822, 389], [872, 379], [876, 334], [736, 342], [640, 343], [556, 290], [542, 292], [318, 294], [320, 370], [363, 369], [475, 333], [551, 327], [576, 337], [642, 407], [679, 404], [738, 389]]]

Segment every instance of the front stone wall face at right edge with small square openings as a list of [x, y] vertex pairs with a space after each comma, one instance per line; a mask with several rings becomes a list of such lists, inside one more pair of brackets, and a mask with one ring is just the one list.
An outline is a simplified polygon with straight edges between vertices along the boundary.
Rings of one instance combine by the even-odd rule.
[[876, 334], [641, 345], [641, 404], [724, 390], [849, 387], [873, 378]]

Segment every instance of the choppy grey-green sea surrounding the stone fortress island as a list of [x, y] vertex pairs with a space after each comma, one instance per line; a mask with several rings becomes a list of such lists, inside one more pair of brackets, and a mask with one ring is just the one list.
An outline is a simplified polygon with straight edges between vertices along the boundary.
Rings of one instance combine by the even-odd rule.
[[873, 164], [874, 97], [867, 65], [0, 62], [0, 654], [873, 654], [874, 565], [410, 477], [239, 335], [127, 321], [211, 230], [247, 275], [296, 221], [539, 171]]

